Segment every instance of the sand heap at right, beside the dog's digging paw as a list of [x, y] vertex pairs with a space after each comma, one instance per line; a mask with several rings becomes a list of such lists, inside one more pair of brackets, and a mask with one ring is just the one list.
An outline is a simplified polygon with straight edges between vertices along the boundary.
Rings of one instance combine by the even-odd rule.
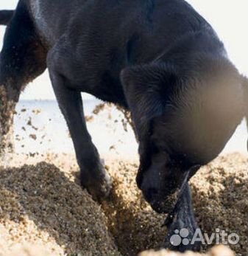
[[[240, 238], [231, 246], [237, 255], [248, 255], [247, 157], [221, 156], [191, 181], [196, 220], [210, 236], [216, 229]], [[208, 246], [203, 246], [208, 248]]]

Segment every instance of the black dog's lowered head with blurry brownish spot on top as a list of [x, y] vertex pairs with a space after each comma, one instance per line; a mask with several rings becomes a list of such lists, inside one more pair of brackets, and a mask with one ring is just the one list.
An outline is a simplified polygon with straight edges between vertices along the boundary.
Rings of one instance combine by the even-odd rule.
[[244, 117], [241, 76], [228, 60], [199, 58], [127, 68], [121, 80], [139, 140], [138, 187], [154, 210], [171, 212]]

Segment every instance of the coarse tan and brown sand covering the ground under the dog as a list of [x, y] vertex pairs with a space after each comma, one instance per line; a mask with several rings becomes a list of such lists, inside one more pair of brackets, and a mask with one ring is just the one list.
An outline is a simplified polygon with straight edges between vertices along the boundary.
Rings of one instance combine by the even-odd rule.
[[[99, 205], [79, 186], [73, 155], [11, 156], [8, 167], [0, 168], [0, 255], [26, 243], [41, 246], [46, 255], [85, 256], [134, 256], [163, 245], [166, 216], [153, 212], [137, 189], [136, 160], [105, 159], [114, 186]], [[202, 231], [237, 233], [240, 242], [231, 248], [247, 256], [247, 157], [219, 157], [202, 167], [191, 187]], [[202, 252], [212, 246], [203, 246]]]

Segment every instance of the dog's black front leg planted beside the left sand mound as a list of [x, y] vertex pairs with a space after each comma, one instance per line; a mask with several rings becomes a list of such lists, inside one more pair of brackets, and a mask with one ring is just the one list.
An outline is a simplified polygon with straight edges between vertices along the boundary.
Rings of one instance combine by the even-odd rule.
[[99, 201], [110, 193], [110, 177], [105, 172], [88, 133], [81, 94], [71, 89], [69, 80], [60, 75], [62, 70], [57, 66], [58, 62], [54, 58], [56, 54], [56, 50], [54, 54], [49, 52], [47, 61], [54, 93], [74, 142], [82, 186]]

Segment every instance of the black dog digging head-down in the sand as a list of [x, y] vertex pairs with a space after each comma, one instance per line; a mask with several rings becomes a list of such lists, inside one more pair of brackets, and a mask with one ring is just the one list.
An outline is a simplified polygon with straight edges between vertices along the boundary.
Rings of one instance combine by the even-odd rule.
[[103, 198], [110, 178], [91, 142], [81, 91], [131, 111], [138, 136], [137, 183], [174, 229], [196, 222], [188, 180], [224, 148], [244, 117], [245, 79], [210, 24], [183, 0], [20, 0], [1, 51], [0, 85], [17, 102], [46, 67], [81, 170]]

